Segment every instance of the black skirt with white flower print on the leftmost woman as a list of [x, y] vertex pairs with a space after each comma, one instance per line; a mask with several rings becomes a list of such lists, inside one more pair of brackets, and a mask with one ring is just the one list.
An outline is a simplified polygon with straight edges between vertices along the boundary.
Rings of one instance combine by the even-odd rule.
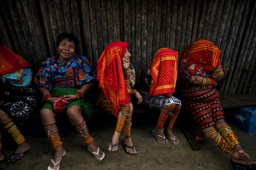
[[38, 93], [32, 86], [19, 90], [5, 91], [1, 95], [0, 109], [14, 122], [23, 124], [29, 119], [31, 112], [36, 108]]

